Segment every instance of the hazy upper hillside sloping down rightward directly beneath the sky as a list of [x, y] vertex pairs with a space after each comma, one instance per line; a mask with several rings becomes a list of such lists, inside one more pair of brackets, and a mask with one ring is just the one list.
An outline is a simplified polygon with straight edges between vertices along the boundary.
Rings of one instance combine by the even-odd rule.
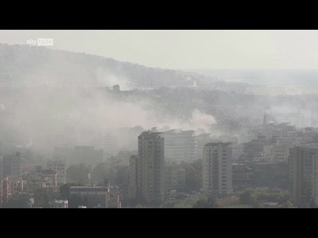
[[244, 91], [246, 84], [226, 83], [212, 76], [140, 64], [111, 58], [52, 50], [30, 45], [0, 43], [0, 86], [112, 86], [123, 89], [160, 86], [215, 87]]

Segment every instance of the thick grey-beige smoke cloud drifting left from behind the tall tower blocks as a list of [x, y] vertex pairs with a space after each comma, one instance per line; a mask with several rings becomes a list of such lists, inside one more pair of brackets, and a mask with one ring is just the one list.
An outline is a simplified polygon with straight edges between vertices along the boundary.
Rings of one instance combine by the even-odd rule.
[[[96, 69], [96, 75], [88, 77], [87, 74], [85, 81], [72, 87], [62, 84], [58, 87], [60, 77], [51, 76], [50, 80], [43, 81], [42, 76], [46, 73], [43, 68], [39, 70], [39, 74], [36, 70], [32, 73], [36, 86], [4, 90], [1, 100], [5, 105], [4, 113], [7, 113], [2, 119], [6, 141], [10, 138], [12, 143], [23, 144], [32, 140], [33, 146], [43, 149], [63, 143], [103, 147], [107, 146], [107, 142], [103, 142], [104, 135], [111, 134], [120, 141], [118, 147], [132, 150], [136, 149], [141, 131], [134, 131], [131, 137], [126, 133], [137, 125], [144, 129], [169, 126], [183, 130], [209, 130], [216, 123], [213, 116], [199, 110], [194, 110], [190, 119], [162, 114], [153, 101], [125, 97], [125, 92], [107, 89], [113, 84], [128, 89], [129, 81], [100, 67]], [[96, 143], [98, 139], [100, 141]]]

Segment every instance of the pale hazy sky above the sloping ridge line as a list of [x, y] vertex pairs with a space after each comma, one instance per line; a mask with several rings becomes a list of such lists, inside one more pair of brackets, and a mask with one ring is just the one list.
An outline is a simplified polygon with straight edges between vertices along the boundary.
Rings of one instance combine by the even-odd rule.
[[318, 69], [317, 30], [0, 30], [0, 43], [37, 38], [152, 67]]

